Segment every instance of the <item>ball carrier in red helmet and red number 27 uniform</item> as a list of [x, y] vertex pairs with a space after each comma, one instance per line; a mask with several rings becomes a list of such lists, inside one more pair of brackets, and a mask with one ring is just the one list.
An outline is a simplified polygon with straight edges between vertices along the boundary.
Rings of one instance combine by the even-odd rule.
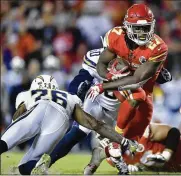
[[139, 106], [129, 100], [124, 101], [120, 106], [115, 128], [117, 132], [124, 131], [128, 138], [141, 137], [152, 117], [153, 87], [163, 67], [168, 48], [164, 41], [154, 34], [155, 19], [145, 4], [131, 6], [123, 24], [123, 27], [115, 27], [107, 32], [105, 38], [108, 47], [100, 55], [97, 71], [101, 77], [112, 80], [107, 65], [118, 56], [128, 62], [133, 74], [98, 84], [93, 91], [96, 96], [104, 90], [135, 90], [142, 86], [146, 94], [145, 101], [139, 103]]

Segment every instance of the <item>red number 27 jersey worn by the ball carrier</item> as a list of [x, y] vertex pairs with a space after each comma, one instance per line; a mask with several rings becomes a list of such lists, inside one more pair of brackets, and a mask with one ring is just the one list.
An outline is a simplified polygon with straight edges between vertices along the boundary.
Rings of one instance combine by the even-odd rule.
[[[144, 46], [138, 46], [136, 49], [130, 50], [126, 44], [125, 35], [126, 33], [122, 27], [115, 27], [107, 32], [105, 39], [108, 48], [118, 57], [126, 60], [132, 71], [135, 71], [141, 64], [147, 61], [164, 63], [168, 48], [159, 36], [154, 34], [152, 41]], [[157, 73], [144, 84], [143, 89], [147, 94], [152, 93], [153, 86], [162, 66], [163, 64]]]

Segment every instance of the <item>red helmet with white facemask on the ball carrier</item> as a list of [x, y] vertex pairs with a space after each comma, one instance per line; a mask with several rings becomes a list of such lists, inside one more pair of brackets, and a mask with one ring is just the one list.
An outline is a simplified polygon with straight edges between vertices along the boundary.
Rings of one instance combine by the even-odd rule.
[[123, 22], [129, 39], [138, 45], [145, 45], [154, 34], [155, 19], [145, 4], [134, 4], [127, 10]]

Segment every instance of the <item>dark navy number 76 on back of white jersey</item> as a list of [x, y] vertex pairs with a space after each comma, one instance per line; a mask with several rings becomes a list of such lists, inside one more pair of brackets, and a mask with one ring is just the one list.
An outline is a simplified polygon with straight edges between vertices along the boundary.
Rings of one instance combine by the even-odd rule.
[[[32, 96], [36, 96], [35, 101], [42, 99], [43, 96], [47, 96], [48, 100], [52, 100], [60, 106], [67, 107], [67, 94], [56, 90], [32, 90]], [[45, 98], [46, 99], [46, 98]]]

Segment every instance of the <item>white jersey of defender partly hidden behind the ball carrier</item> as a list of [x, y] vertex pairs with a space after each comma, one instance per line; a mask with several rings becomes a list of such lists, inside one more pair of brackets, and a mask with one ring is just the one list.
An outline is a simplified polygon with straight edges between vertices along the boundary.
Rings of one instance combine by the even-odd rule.
[[[100, 54], [103, 52], [103, 48], [94, 49], [88, 51], [84, 56], [82, 67], [87, 70], [92, 77], [94, 77], [93, 83], [102, 83], [104, 78], [101, 78], [96, 70], [96, 65], [99, 60]], [[113, 95], [111, 91], [105, 91], [97, 96], [96, 101], [109, 111], [116, 111], [120, 105], [120, 101]]]

